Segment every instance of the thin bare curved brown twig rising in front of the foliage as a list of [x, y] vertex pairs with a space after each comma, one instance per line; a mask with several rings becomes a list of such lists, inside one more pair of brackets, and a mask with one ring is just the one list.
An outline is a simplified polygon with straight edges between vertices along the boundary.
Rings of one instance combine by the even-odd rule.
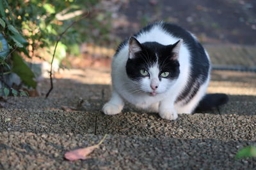
[[58, 38], [58, 40], [57, 40], [57, 42], [56, 42], [53, 55], [52, 55], [51, 70], [50, 70], [51, 88], [50, 88], [49, 91], [47, 92], [45, 98], [47, 98], [47, 97], [49, 96], [49, 94], [51, 93], [51, 91], [52, 91], [52, 89], [53, 89], [53, 83], [52, 83], [52, 62], [53, 62], [53, 60], [54, 60], [56, 48], [57, 48], [57, 46], [58, 46], [58, 43], [59, 43], [60, 39], [62, 38], [63, 34], [65, 34], [65, 33], [68, 31], [68, 29], [69, 29], [70, 27], [72, 27], [74, 24], [76, 24], [77, 22], [79, 22], [79, 20], [81, 20], [81, 19], [87, 17], [87, 15], [88, 15], [88, 13], [86, 13], [86, 14], [83, 15], [81, 18], [79, 18], [79, 19], [75, 20], [74, 22], [72, 22], [72, 24], [70, 24], [70, 25], [65, 29], [65, 31], [63, 31], [63, 32], [60, 34], [60, 36], [59, 36], [59, 38]]

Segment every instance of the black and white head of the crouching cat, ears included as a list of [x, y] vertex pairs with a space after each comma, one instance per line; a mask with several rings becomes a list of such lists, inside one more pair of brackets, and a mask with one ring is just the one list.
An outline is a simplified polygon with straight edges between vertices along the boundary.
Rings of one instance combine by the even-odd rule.
[[129, 39], [129, 59], [126, 63], [131, 92], [156, 96], [166, 92], [177, 80], [179, 70], [179, 49], [182, 39], [173, 45], [156, 42], [140, 43]]

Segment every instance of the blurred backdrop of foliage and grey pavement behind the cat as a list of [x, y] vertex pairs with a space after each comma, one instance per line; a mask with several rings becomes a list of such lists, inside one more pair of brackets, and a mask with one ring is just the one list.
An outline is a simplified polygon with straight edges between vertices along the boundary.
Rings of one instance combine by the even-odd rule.
[[256, 71], [253, 0], [3, 0], [0, 11], [2, 96], [35, 89], [37, 81], [49, 78], [58, 38], [83, 16], [61, 36], [53, 71], [109, 68], [119, 43], [159, 20], [193, 32], [210, 53], [213, 69]]

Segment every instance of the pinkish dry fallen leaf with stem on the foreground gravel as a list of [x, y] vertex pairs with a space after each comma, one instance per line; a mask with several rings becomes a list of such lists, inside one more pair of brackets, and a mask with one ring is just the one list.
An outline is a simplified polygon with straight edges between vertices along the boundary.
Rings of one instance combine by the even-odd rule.
[[101, 141], [97, 144], [97, 145], [93, 145], [93, 146], [89, 146], [86, 148], [80, 148], [77, 150], [72, 150], [70, 152], [66, 152], [64, 157], [67, 160], [78, 160], [78, 159], [87, 159], [88, 155], [90, 153], [93, 152], [93, 150], [95, 150], [96, 148], [99, 148], [100, 144], [104, 141], [104, 139], [107, 137], [108, 135], [105, 134], [105, 136], [101, 139]]

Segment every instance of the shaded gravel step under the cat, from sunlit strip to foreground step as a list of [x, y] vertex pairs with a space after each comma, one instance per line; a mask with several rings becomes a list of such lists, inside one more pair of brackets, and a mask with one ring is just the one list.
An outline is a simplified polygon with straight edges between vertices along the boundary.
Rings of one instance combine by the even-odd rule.
[[[51, 97], [8, 97], [0, 131], [56, 134], [113, 134], [164, 138], [211, 138], [255, 140], [256, 96], [229, 95], [220, 108], [193, 115], [182, 114], [175, 121], [157, 113], [145, 113], [126, 104], [118, 115], [104, 115], [101, 108], [111, 95], [109, 85], [84, 84], [68, 79], [55, 82]], [[83, 109], [76, 111], [79, 100]], [[65, 107], [63, 107], [65, 106]], [[239, 127], [237, 129], [237, 126]], [[235, 132], [234, 132], [235, 131]]]

